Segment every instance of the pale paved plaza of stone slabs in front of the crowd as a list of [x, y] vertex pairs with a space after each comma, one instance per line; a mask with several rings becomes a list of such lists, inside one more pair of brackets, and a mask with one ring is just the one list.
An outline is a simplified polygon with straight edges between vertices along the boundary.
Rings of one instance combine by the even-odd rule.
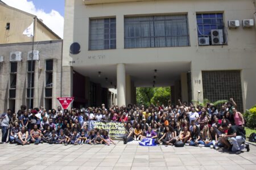
[[256, 147], [240, 155], [210, 148], [123, 145], [0, 145], [0, 169], [256, 169]]

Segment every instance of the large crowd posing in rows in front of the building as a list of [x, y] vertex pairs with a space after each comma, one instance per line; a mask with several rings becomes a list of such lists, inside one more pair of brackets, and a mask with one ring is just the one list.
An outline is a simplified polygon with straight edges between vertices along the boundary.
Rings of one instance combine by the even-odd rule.
[[118, 121], [126, 129], [123, 143], [154, 139], [157, 145], [188, 145], [210, 147], [240, 154], [245, 144], [245, 121], [230, 99], [221, 105], [220, 111], [213, 104], [193, 105], [178, 101], [178, 105], [151, 104], [148, 107], [112, 105], [106, 108], [88, 107], [47, 110], [44, 107], [26, 109], [21, 105], [17, 113], [7, 109], [1, 115], [2, 143], [28, 145], [49, 143], [63, 145], [115, 144], [108, 130], [88, 129], [90, 121]]

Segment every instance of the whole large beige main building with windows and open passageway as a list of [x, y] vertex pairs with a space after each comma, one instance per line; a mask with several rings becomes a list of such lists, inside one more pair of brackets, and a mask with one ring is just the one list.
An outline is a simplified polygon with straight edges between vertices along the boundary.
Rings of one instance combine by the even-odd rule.
[[75, 96], [76, 71], [85, 99], [90, 82], [116, 85], [118, 105], [155, 84], [174, 103], [233, 97], [242, 112], [256, 101], [254, 14], [251, 0], [66, 0], [63, 96]]

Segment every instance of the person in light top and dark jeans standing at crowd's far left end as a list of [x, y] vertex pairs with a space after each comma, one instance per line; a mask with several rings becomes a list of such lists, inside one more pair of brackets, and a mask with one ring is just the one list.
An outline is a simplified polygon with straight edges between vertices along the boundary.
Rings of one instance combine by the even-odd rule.
[[3, 113], [0, 118], [2, 119], [2, 122], [0, 124], [1, 129], [2, 129], [2, 142], [1, 143], [6, 143], [8, 131], [10, 129], [11, 109], [7, 109], [7, 113]]

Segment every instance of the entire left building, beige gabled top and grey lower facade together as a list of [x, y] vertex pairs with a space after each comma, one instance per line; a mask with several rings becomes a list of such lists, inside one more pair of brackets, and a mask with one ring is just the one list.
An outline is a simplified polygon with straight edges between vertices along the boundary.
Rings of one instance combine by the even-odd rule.
[[22, 104], [29, 108], [31, 75], [31, 107], [59, 105], [63, 40], [36, 18], [31, 62], [32, 37], [23, 31], [34, 18], [0, 1], [0, 113], [8, 108], [16, 112]]

